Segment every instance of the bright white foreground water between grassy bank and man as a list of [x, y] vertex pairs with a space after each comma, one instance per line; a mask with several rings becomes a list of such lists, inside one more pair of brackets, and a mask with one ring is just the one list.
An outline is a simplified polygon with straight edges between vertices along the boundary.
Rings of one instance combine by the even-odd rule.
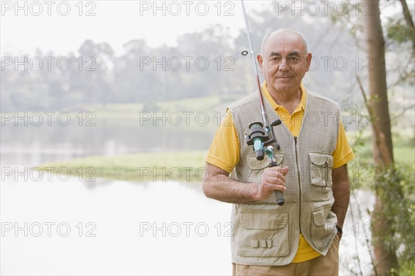
[[200, 184], [5, 181], [0, 210], [2, 275], [230, 274], [230, 204]]

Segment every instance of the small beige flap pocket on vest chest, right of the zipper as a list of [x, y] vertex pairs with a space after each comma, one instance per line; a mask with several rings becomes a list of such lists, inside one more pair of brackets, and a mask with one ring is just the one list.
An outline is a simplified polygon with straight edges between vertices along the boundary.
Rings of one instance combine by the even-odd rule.
[[310, 157], [310, 182], [329, 190], [333, 185], [331, 180], [331, 168], [333, 167], [333, 156], [308, 152]]

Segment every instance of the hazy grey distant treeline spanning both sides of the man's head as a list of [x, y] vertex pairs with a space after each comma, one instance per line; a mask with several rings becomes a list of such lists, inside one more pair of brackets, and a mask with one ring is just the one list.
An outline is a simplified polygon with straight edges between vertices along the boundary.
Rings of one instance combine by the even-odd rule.
[[[278, 11], [277, 3], [250, 17], [257, 52], [264, 34], [279, 28], [302, 32], [313, 52], [304, 79], [315, 92], [337, 101], [360, 98], [354, 73], [365, 80], [371, 61], [358, 50], [356, 37], [341, 21], [326, 14], [301, 16]], [[1, 57], [1, 111], [89, 110], [91, 105], [145, 103], [255, 90], [243, 19], [234, 38], [225, 26], [210, 26], [183, 34], [177, 46], [149, 47], [144, 39], [124, 44], [124, 52], [109, 43], [86, 40], [77, 52], [57, 55], [37, 50], [35, 55]], [[356, 32], [360, 32], [356, 30]]]

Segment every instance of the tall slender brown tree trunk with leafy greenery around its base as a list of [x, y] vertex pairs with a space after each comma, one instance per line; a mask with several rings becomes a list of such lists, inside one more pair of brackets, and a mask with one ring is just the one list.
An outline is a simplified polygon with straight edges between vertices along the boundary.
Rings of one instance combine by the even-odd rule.
[[[362, 6], [370, 6], [371, 13], [363, 18], [367, 54], [373, 62], [369, 71], [369, 95], [367, 108], [372, 116], [372, 147], [374, 163], [377, 169], [375, 184], [376, 203], [372, 216], [372, 233], [374, 244], [376, 275], [390, 275], [398, 270], [397, 243], [391, 242], [396, 231], [396, 217], [391, 215], [389, 208], [396, 201], [404, 201], [398, 172], [394, 167], [392, 151], [391, 123], [387, 97], [387, 70], [385, 66], [385, 39], [380, 21], [379, 1], [364, 0]], [[364, 93], [365, 95], [365, 93]], [[388, 177], [382, 177], [382, 175]], [[407, 217], [403, 209], [402, 219]], [[409, 222], [408, 222], [409, 223]], [[406, 245], [408, 246], [408, 245]]]

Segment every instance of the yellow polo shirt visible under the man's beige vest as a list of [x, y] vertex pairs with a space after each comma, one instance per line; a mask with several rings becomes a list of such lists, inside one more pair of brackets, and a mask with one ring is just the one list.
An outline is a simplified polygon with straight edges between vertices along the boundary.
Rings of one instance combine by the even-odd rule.
[[[271, 104], [279, 119], [286, 125], [288, 130], [294, 137], [297, 137], [302, 125], [304, 117], [304, 108], [306, 107], [306, 89], [301, 84], [300, 89], [302, 91], [301, 100], [297, 108], [290, 114], [284, 106], [279, 106], [275, 103], [273, 97], [266, 86], [266, 81], [261, 85], [261, 90], [264, 98]], [[231, 172], [232, 169], [239, 163], [239, 150], [240, 141], [232, 121], [232, 115], [227, 110], [225, 116], [221, 121], [221, 125], [216, 130], [212, 144], [210, 146], [206, 162], [222, 168], [227, 172]], [[333, 168], [339, 168], [354, 158], [353, 150], [347, 141], [346, 132], [343, 125], [339, 124], [338, 140], [336, 142], [335, 150], [333, 151]], [[297, 254], [293, 259], [293, 263], [305, 262], [309, 259], [320, 256], [320, 253], [315, 251], [304, 239], [302, 234], [299, 235], [299, 244]]]

